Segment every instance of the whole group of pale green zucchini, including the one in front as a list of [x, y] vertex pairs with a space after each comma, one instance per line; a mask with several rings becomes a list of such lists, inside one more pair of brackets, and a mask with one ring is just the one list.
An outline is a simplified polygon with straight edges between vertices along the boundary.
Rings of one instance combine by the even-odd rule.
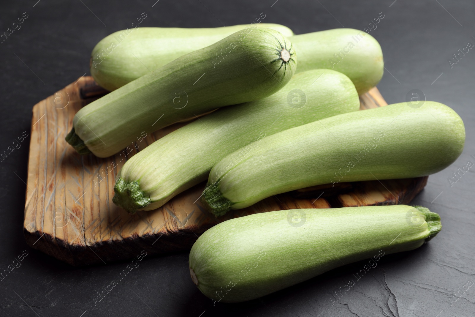
[[[144, 132], [196, 119], [118, 172], [113, 202], [131, 214], [206, 180], [201, 202], [219, 217], [308, 186], [425, 176], [464, 147], [462, 119], [443, 104], [359, 111], [384, 67], [378, 42], [355, 29], [128, 29], [95, 46], [90, 68], [111, 92], [74, 117], [66, 141], [79, 154], [108, 157]], [[440, 229], [421, 206], [256, 213], [201, 235], [190, 275], [214, 302], [246, 301], [416, 249]]]

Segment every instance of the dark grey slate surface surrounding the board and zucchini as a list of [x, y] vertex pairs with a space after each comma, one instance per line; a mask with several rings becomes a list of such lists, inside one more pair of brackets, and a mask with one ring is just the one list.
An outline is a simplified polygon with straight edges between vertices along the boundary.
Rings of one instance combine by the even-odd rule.
[[[465, 122], [467, 138], [456, 163], [430, 176], [414, 201], [441, 215], [443, 230], [437, 239], [418, 250], [384, 256], [339, 302], [332, 302], [332, 292], [354, 279], [353, 273], [366, 261], [262, 301], [214, 307], [190, 280], [188, 253], [148, 257], [95, 306], [97, 291], [128, 261], [73, 268], [30, 249], [22, 233], [27, 139], [0, 163], [0, 269], [23, 250], [29, 252], [21, 267], [0, 281], [0, 316], [474, 316], [475, 285], [468, 290], [464, 286], [475, 282], [475, 167], [453, 187], [447, 180], [468, 160], [475, 163], [470, 157], [475, 155], [475, 48], [453, 68], [447, 61], [467, 42], [475, 44], [474, 1], [37, 1], [0, 4], [0, 33], [23, 12], [29, 15], [21, 29], [0, 44], [0, 152], [23, 131], [29, 132], [34, 104], [89, 73], [95, 44], [129, 27], [142, 12], [148, 16], [141, 26], [149, 27], [247, 24], [265, 12], [264, 22], [284, 24], [296, 34], [342, 25], [364, 29], [383, 12], [384, 19], [370, 33], [384, 53], [381, 94], [388, 103], [396, 103], [405, 101], [411, 89], [421, 90], [428, 100], [456, 110]], [[461, 298], [455, 301], [458, 291]]]

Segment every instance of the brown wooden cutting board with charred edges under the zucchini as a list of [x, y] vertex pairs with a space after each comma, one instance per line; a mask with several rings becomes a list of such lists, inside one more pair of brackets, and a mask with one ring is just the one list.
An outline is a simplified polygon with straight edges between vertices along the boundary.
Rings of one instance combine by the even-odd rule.
[[[409, 203], [427, 183], [419, 177], [316, 186], [269, 197], [220, 219], [199, 202], [201, 183], [159, 209], [131, 216], [112, 202], [114, 179], [126, 159], [81, 156], [64, 139], [76, 112], [105, 93], [92, 77], [81, 77], [33, 107], [23, 231], [29, 246], [72, 265], [132, 258], [142, 250], [189, 250], [218, 222], [256, 212]], [[387, 105], [376, 87], [360, 100], [361, 110]], [[183, 125], [148, 135], [138, 150]]]

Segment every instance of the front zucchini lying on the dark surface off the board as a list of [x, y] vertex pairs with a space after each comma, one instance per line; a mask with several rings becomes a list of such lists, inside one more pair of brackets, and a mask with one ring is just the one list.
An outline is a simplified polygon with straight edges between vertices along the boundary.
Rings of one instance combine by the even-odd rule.
[[[303, 224], [295, 224], [294, 216]], [[343, 263], [417, 249], [440, 230], [439, 215], [420, 206], [256, 213], [203, 233], [190, 251], [190, 274], [214, 302], [242, 302]]]

